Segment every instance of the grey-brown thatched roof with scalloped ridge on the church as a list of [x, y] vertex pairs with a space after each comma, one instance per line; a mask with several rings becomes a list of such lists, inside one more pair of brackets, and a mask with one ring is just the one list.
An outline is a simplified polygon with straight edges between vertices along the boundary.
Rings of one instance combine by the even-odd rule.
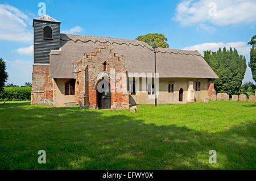
[[[155, 71], [152, 47], [142, 41], [61, 34], [60, 45], [60, 50], [50, 53], [51, 78], [74, 78], [72, 64], [99, 45], [109, 45], [119, 56], [124, 55], [128, 73]], [[158, 48], [156, 71], [159, 77], [218, 78], [199, 52], [189, 50]]]

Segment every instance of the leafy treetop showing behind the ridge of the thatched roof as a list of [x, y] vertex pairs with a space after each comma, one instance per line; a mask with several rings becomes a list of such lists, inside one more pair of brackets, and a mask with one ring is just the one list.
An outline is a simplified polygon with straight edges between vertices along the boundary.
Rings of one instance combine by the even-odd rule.
[[150, 46], [156, 44], [158, 47], [169, 48], [167, 37], [163, 33], [148, 33], [147, 35], [138, 36], [135, 40], [144, 41]]

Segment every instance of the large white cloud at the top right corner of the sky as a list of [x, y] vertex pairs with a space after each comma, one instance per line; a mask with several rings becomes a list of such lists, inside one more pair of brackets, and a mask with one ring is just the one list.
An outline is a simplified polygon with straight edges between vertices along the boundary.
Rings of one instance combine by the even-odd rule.
[[[216, 11], [214, 9], [216, 5]], [[216, 12], [216, 14], [214, 13]], [[255, 0], [183, 0], [173, 20], [183, 26], [210, 22], [216, 25], [256, 22]]]

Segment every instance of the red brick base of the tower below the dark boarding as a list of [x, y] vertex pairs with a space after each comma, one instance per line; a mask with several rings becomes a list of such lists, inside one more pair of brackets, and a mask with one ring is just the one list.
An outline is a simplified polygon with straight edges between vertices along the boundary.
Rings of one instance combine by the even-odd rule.
[[53, 81], [49, 65], [33, 65], [31, 104], [53, 104]]

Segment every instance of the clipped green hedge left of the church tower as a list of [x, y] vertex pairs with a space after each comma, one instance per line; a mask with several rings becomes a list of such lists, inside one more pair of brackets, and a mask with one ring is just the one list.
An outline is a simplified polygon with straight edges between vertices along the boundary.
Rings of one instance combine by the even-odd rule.
[[30, 100], [31, 87], [5, 87], [0, 92], [0, 101]]

